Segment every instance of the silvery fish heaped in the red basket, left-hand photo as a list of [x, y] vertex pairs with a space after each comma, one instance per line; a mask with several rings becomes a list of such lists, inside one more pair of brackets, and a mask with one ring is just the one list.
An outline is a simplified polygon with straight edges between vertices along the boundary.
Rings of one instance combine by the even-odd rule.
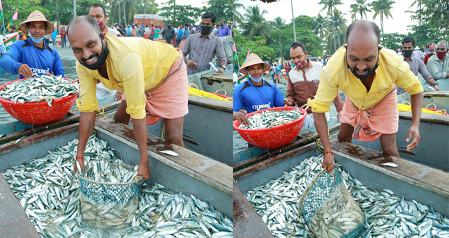
[[79, 84], [62, 79], [62, 76], [41, 75], [8, 84], [0, 90], [0, 97], [15, 103], [39, 102], [45, 100], [51, 106], [51, 100], [76, 95]]

